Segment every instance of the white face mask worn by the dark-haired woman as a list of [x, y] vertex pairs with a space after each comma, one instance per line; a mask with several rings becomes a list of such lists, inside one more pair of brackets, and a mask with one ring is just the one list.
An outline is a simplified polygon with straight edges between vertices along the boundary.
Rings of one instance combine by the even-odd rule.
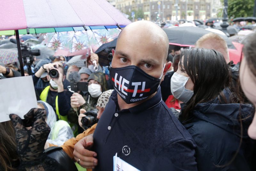
[[172, 78], [171, 78], [171, 92], [172, 95], [184, 102], [187, 103], [188, 100], [191, 99], [191, 97], [194, 94], [194, 91], [188, 90], [185, 88], [186, 83], [188, 82], [189, 77], [185, 77], [183, 75], [178, 74], [177, 72], [174, 72]]

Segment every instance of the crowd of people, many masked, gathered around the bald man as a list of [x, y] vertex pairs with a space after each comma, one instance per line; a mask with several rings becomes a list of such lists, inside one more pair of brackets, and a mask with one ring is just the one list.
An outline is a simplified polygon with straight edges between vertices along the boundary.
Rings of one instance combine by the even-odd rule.
[[[109, 75], [95, 53], [82, 68], [37, 61], [37, 108], [0, 123], [0, 170], [56, 171], [63, 157], [67, 170], [120, 170], [114, 156], [138, 170], [256, 170], [256, 33], [243, 44], [234, 64], [215, 33], [171, 50], [161, 27], [136, 21], [120, 32]], [[58, 147], [65, 155], [45, 152]]]

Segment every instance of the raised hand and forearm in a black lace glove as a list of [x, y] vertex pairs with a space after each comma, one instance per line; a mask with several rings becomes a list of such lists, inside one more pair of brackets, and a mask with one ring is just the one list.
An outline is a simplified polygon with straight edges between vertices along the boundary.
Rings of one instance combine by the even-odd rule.
[[38, 108], [32, 108], [24, 115], [23, 120], [18, 115], [10, 115], [15, 129], [17, 153], [20, 156], [20, 170], [58, 170], [57, 161], [43, 153], [51, 131], [45, 117], [46, 110]]

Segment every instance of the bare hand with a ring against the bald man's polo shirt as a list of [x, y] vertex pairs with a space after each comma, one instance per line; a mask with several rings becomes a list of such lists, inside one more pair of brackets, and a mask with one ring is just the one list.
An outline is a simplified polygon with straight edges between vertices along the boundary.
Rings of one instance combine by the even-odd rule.
[[95, 168], [98, 165], [96, 152], [89, 149], [93, 145], [93, 134], [90, 134], [83, 139], [79, 140], [74, 147], [74, 157], [76, 162], [84, 168]]

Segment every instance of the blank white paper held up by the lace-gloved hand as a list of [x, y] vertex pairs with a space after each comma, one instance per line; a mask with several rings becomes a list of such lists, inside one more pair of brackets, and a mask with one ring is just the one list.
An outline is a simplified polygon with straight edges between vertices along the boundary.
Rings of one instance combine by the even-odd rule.
[[36, 107], [32, 76], [0, 79], [0, 122], [9, 121], [9, 114], [24, 119], [23, 116]]

